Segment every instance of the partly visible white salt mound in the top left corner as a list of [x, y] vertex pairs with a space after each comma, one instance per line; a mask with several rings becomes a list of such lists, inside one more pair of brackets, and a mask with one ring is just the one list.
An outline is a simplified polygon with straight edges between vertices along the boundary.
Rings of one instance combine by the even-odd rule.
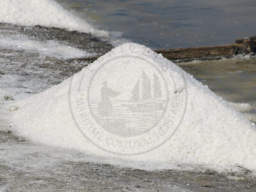
[[72, 15], [53, 0], [0, 0], [0, 22], [108, 35], [106, 31], [94, 29], [88, 22]]

